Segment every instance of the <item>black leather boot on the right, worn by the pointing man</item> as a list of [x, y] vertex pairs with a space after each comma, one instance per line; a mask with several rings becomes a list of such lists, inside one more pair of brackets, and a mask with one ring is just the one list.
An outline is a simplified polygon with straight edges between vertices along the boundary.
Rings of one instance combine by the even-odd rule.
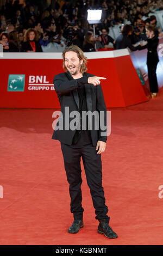
[[99, 221], [99, 225], [98, 225], [97, 232], [99, 234], [104, 234], [108, 238], [116, 238], [116, 237], [118, 237], [117, 234], [109, 226], [109, 220], [102, 219], [102, 220], [98, 220], [98, 221]]

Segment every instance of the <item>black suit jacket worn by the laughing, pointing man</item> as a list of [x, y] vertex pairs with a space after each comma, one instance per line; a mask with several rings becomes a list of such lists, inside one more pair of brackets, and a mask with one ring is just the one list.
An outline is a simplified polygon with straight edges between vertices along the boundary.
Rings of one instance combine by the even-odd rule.
[[[87, 111], [97, 111], [99, 113], [98, 117], [95, 118], [95, 122], [93, 122], [92, 130], [91, 131], [91, 138], [92, 138], [92, 144], [94, 147], [96, 147], [97, 141], [104, 141], [106, 142], [107, 136], [106, 136], [106, 105], [104, 101], [104, 95], [102, 91], [101, 84], [98, 84], [97, 86], [93, 86], [93, 84], [87, 83], [87, 78], [93, 76], [88, 73], [84, 73], [82, 78], [78, 78], [74, 80], [70, 74], [70, 72], [64, 72], [59, 75], [54, 76], [54, 88], [55, 92], [58, 95], [58, 99], [61, 106], [61, 113], [60, 117], [58, 119], [58, 123], [55, 126], [54, 132], [53, 132], [53, 139], [57, 139], [62, 143], [71, 145], [74, 133], [76, 130], [65, 130], [65, 122], [70, 125], [70, 122], [74, 119], [74, 117], [70, 118], [69, 116], [65, 115], [65, 107], [69, 107], [69, 115], [72, 111], [78, 111], [79, 112], [79, 95], [77, 89], [81, 86], [85, 87], [85, 94], [86, 94], [86, 105], [87, 105]], [[104, 120], [103, 126], [99, 123], [100, 118]], [[58, 129], [59, 121], [63, 122], [63, 130]], [[97, 130], [98, 127], [98, 130]], [[105, 134], [104, 134], [105, 132]]]

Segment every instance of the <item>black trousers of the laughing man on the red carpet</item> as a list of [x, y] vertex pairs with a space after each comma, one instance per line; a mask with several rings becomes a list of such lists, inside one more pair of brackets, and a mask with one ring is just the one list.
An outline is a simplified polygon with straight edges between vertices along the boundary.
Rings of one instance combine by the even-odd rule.
[[71, 148], [61, 143], [61, 150], [64, 156], [64, 164], [67, 175], [67, 181], [70, 184], [69, 192], [71, 197], [71, 212], [74, 220], [83, 218], [82, 207], [82, 170], [80, 159], [82, 156], [87, 185], [90, 188], [93, 206], [95, 208], [96, 219], [110, 219], [106, 214], [108, 207], [105, 205], [104, 189], [102, 187], [102, 161], [101, 154], [96, 154], [98, 150], [92, 144], [83, 146], [83, 148]]

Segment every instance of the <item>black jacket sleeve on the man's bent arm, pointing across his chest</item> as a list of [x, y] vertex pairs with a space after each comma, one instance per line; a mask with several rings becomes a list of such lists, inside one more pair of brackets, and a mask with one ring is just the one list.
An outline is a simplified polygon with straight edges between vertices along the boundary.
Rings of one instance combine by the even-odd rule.
[[87, 83], [87, 77], [81, 77], [78, 79], [73, 80], [67, 80], [65, 81], [64, 77], [61, 77], [60, 75], [54, 76], [54, 88], [55, 92], [57, 92], [58, 95], [63, 95], [72, 92], [72, 90], [75, 90], [79, 87], [82, 87], [84, 83]]

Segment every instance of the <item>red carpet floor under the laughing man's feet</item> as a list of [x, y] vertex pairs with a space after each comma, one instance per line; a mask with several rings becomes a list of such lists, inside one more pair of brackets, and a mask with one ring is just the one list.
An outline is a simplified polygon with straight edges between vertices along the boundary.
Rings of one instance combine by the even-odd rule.
[[51, 139], [54, 110], [0, 109], [1, 245], [162, 245], [163, 92], [109, 110], [103, 186], [118, 238], [97, 233], [83, 162], [84, 228], [67, 232], [73, 216], [60, 143]]

